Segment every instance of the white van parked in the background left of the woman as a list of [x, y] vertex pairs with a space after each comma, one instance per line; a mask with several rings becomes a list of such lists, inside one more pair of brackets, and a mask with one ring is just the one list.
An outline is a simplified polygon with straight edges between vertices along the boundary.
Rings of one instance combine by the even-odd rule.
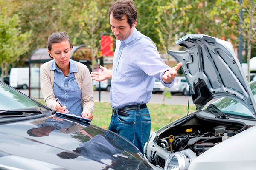
[[[31, 68], [31, 87], [39, 86], [39, 68]], [[11, 68], [10, 71], [10, 86], [13, 88], [27, 89], [29, 87], [29, 68], [19, 67]]]

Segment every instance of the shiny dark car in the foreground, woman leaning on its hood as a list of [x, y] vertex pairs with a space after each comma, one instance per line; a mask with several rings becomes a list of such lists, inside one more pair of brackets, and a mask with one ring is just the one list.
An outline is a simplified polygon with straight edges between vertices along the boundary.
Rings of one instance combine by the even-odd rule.
[[124, 137], [0, 82], [0, 169], [151, 170]]

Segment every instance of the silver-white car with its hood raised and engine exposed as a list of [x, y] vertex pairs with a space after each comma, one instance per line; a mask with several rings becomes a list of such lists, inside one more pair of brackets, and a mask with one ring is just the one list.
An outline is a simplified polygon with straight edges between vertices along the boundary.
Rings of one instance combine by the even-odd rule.
[[256, 81], [249, 86], [230, 42], [189, 34], [175, 43], [186, 51], [168, 54], [182, 63], [197, 111], [153, 133], [146, 158], [162, 170], [254, 169]]

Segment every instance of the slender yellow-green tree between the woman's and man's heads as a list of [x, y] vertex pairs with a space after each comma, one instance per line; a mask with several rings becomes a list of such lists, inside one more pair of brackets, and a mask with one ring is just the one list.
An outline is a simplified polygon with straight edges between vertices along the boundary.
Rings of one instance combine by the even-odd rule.
[[85, 0], [81, 4], [81, 10], [75, 15], [76, 24], [79, 28], [74, 35], [75, 42], [82, 42], [92, 51], [92, 70], [96, 62], [96, 57], [100, 50], [99, 35], [105, 28], [110, 28], [108, 24], [108, 3], [102, 0]]

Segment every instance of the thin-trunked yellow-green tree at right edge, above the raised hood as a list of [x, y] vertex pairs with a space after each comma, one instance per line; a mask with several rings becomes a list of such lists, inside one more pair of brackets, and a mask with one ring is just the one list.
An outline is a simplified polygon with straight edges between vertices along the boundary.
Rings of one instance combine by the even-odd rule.
[[[218, 0], [212, 13], [214, 17], [221, 20], [221, 26], [236, 35], [236, 42], [238, 42], [238, 34], [243, 35], [243, 44], [246, 44], [244, 48], [247, 48], [247, 79], [250, 82], [251, 49], [256, 45], [256, 2], [255, 0], [243, 0], [242, 2], [240, 6], [238, 1]], [[243, 11], [243, 18], [240, 18], [239, 12], [241, 10]], [[241, 21], [242, 31], [239, 29], [239, 21]]]

